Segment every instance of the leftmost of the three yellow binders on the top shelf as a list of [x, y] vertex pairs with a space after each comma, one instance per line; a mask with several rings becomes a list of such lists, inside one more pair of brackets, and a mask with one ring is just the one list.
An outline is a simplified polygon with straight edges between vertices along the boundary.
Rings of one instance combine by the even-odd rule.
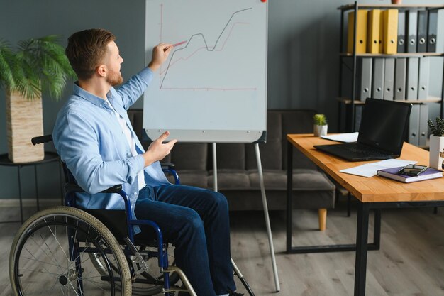
[[[353, 39], [355, 32], [353, 26], [355, 24], [355, 11], [348, 13], [348, 46], [347, 52], [353, 53]], [[367, 10], [359, 9], [357, 11], [356, 22], [356, 53], [366, 53], [367, 50]]]

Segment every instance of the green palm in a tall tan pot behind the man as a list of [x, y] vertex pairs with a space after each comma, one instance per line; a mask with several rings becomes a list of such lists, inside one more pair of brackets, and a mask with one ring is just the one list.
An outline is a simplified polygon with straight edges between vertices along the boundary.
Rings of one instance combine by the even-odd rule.
[[43, 160], [43, 146], [30, 138], [43, 135], [42, 93], [60, 99], [66, 80], [76, 75], [57, 35], [29, 38], [16, 50], [0, 40], [0, 87], [6, 92], [6, 136], [13, 163]]

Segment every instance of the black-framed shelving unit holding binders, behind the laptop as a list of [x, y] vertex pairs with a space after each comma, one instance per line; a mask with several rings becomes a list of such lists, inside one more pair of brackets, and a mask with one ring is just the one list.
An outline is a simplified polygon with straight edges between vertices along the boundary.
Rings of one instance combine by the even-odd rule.
[[[372, 10], [372, 9], [381, 9], [381, 10], [387, 10], [387, 9], [397, 9], [398, 11], [433, 11], [433, 10], [440, 10], [444, 9], [443, 5], [399, 5], [399, 4], [385, 4], [385, 5], [369, 5], [369, 4], [362, 4], [358, 5], [355, 1], [354, 4], [346, 4], [343, 6], [338, 7], [338, 10], [340, 10], [340, 48], [339, 48], [339, 94], [338, 97], [336, 97], [336, 100], [338, 101], [338, 127], [340, 131], [356, 131], [356, 110], [357, 107], [362, 106], [365, 104], [364, 100], [360, 100], [357, 98], [357, 78], [359, 78], [359, 74], [357, 74], [357, 62], [360, 62], [360, 59], [364, 58], [370, 58], [374, 60], [374, 58], [384, 59], [387, 60], [388, 58], [392, 59], [405, 59], [408, 60], [411, 57], [416, 57], [418, 60], [420, 60], [423, 57], [431, 57], [433, 59], [435, 58], [443, 58], [444, 53], [438, 53], [438, 52], [421, 52], [421, 53], [394, 53], [394, 54], [386, 54], [386, 53], [357, 53], [357, 18], [354, 17], [353, 21], [351, 23], [353, 24], [353, 50], [350, 53], [350, 49], [347, 48], [347, 44], [345, 44], [348, 39], [347, 31], [345, 31], [345, 28], [347, 26], [348, 21], [348, 13], [350, 11], [354, 12], [354, 16], [358, 16], [358, 11], [360, 9], [365, 10]], [[359, 29], [358, 29], [359, 30]], [[345, 38], [345, 39], [344, 39]], [[406, 36], [407, 39], [407, 36]], [[407, 46], [407, 45], [405, 45]], [[441, 50], [441, 49], [439, 49]], [[408, 62], [408, 61], [407, 61]], [[351, 83], [343, 83], [343, 78], [345, 72], [348, 71], [348, 75], [351, 75]], [[429, 70], [430, 71], [430, 70]], [[372, 75], [372, 74], [371, 74]], [[444, 66], [443, 66], [443, 80], [444, 80]], [[428, 82], [430, 82], [430, 78], [428, 79]], [[405, 102], [409, 104], [439, 104], [440, 105], [440, 116], [443, 117], [443, 105], [444, 105], [444, 81], [441, 81], [441, 97], [433, 97], [430, 94], [426, 99], [414, 99], [414, 100], [407, 100], [406, 97], [404, 97], [403, 100], [399, 101], [399, 99], [396, 99], [398, 102]], [[429, 83], [430, 86], [430, 83]], [[345, 88], [350, 87], [350, 89]], [[430, 87], [429, 87], [430, 89]], [[405, 89], [407, 91], [408, 89]], [[392, 92], [394, 92], [395, 89], [392, 89]], [[350, 92], [350, 96], [348, 94], [345, 94], [346, 92]], [[371, 96], [371, 91], [369, 90], [369, 95]], [[394, 99], [394, 98], [393, 98]], [[345, 115], [345, 120], [343, 119], [343, 115]]]

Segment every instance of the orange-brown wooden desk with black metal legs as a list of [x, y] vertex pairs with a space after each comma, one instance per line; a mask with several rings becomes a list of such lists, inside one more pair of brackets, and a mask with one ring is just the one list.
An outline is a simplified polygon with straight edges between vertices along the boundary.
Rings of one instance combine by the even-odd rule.
[[[404, 184], [384, 177], [370, 178], [339, 172], [374, 161], [348, 162], [313, 148], [313, 145], [334, 143], [311, 134], [287, 135], [287, 253], [309, 253], [329, 251], [355, 251], [355, 296], [365, 295], [367, 250], [379, 249], [381, 226], [380, 209], [390, 207], [443, 207], [444, 179], [426, 180]], [[313, 163], [333, 177], [360, 201], [357, 211], [356, 244], [334, 246], [292, 247], [292, 155], [293, 147], [301, 150]], [[428, 151], [404, 143], [401, 159], [418, 160], [428, 165]], [[369, 213], [375, 210], [374, 243], [367, 243]]]

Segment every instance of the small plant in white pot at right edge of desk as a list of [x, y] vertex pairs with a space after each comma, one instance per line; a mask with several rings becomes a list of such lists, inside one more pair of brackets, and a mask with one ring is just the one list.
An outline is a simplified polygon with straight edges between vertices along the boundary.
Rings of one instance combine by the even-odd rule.
[[427, 121], [427, 124], [432, 131], [430, 135], [429, 166], [441, 169], [444, 160], [440, 153], [444, 150], [444, 119], [436, 117], [436, 126], [430, 119]]

